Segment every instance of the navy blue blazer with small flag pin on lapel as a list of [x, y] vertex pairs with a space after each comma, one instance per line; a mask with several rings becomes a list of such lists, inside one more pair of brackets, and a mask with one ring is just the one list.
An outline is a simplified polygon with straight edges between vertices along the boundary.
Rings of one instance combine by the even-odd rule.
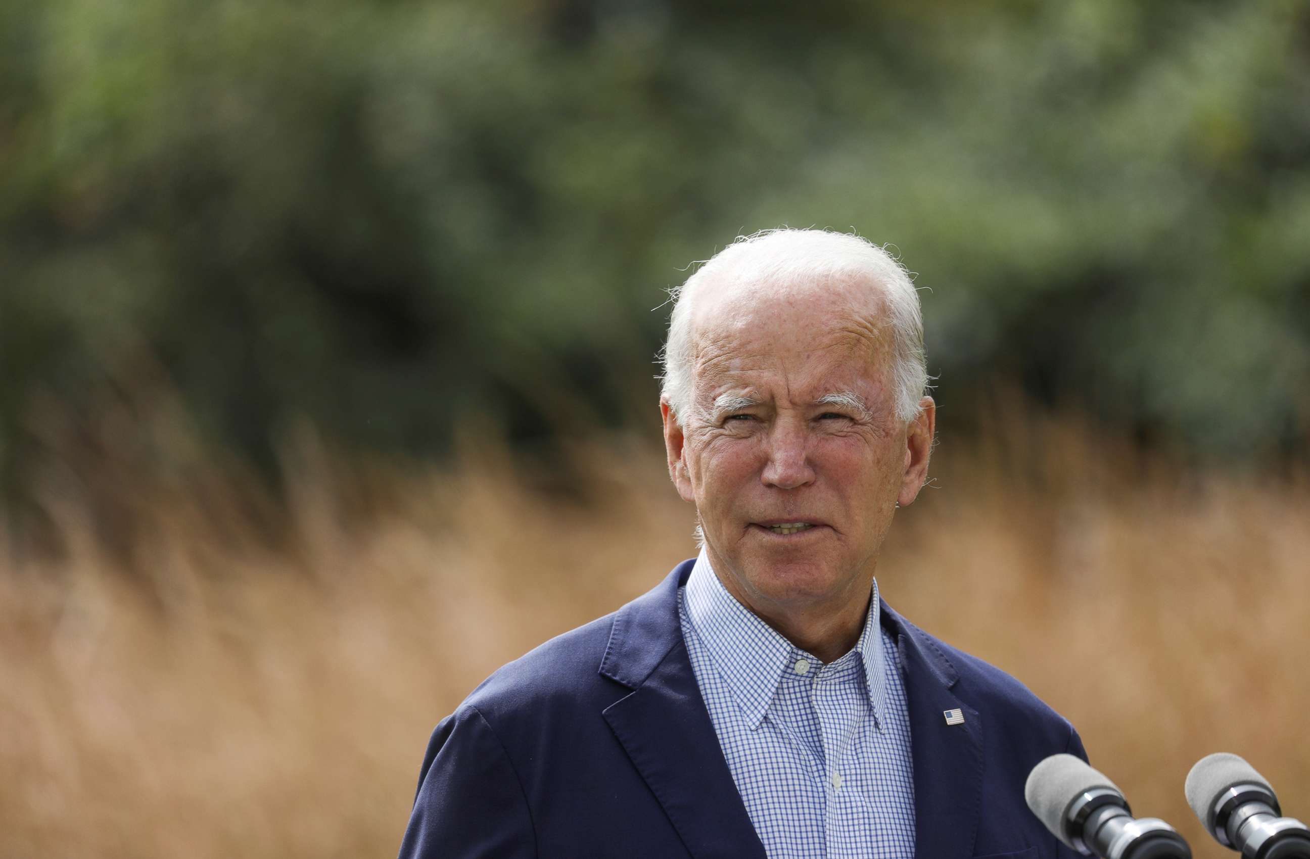
[[[765, 859], [683, 643], [692, 564], [500, 668], [436, 725], [401, 859]], [[916, 855], [1074, 859], [1023, 801], [1040, 759], [1086, 757], [1073, 727], [880, 608], [905, 676]]]

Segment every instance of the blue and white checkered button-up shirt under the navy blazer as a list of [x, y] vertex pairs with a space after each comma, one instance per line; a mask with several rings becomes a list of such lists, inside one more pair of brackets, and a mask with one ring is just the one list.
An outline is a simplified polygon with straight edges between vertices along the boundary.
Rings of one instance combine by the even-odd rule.
[[878, 622], [823, 664], [736, 601], [705, 551], [679, 591], [683, 639], [738, 792], [770, 859], [914, 855], [905, 685]]

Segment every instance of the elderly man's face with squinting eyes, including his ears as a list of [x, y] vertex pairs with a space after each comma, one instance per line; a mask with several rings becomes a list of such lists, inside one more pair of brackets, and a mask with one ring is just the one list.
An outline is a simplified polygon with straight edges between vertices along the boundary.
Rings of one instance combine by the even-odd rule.
[[664, 405], [664, 436], [724, 587], [766, 619], [867, 600], [934, 419], [930, 398], [909, 427], [896, 418], [879, 291], [723, 287], [693, 312], [694, 406], [680, 428]]

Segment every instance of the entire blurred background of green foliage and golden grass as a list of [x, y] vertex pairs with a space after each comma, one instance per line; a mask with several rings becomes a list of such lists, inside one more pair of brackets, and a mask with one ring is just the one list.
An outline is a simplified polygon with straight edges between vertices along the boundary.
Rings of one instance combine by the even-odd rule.
[[1310, 817], [1310, 4], [0, 0], [0, 854], [393, 854], [694, 554], [665, 291], [778, 225], [917, 272], [888, 600]]

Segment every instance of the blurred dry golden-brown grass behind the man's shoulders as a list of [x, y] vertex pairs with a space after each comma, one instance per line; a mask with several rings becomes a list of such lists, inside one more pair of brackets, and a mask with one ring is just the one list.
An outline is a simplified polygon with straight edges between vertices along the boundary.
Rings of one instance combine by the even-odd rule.
[[[1205, 753], [1310, 817], [1303, 473], [1187, 473], [1061, 424], [993, 436], [938, 449], [887, 598], [1073, 719], [1197, 856], [1231, 855], [1183, 803]], [[0, 545], [0, 855], [393, 855], [436, 720], [693, 554], [651, 439], [574, 458], [582, 500], [494, 443], [443, 470], [303, 440], [275, 539], [234, 469], [111, 469], [107, 536], [80, 503], [94, 481], [51, 484], [59, 559]]]

